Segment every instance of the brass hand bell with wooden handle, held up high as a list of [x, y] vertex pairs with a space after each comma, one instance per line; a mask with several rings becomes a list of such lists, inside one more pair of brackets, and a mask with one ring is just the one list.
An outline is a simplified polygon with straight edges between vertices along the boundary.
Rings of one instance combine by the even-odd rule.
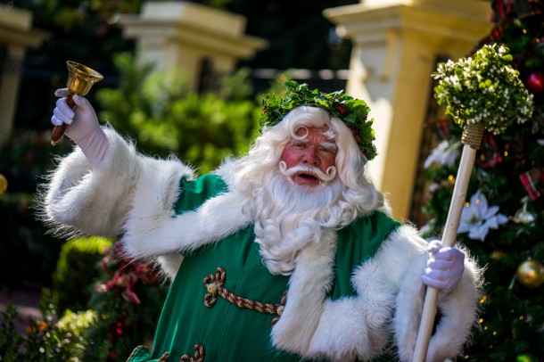
[[[66, 62], [66, 66], [68, 67], [68, 81], [66, 82], [66, 86], [68, 87], [68, 91], [70, 92], [70, 95], [66, 97], [66, 103], [71, 108], [74, 108], [76, 106], [76, 103], [71, 99], [72, 95], [80, 95], [85, 96], [87, 93], [89, 93], [89, 90], [91, 89], [91, 86], [93, 86], [96, 82], [99, 82], [103, 79], [102, 74], [97, 72], [96, 70], [92, 70], [91, 68], [79, 64], [78, 62]], [[64, 135], [64, 131], [66, 130], [66, 124], [63, 123], [61, 126], [55, 126], [53, 128], [53, 132], [51, 133], [51, 144], [56, 144], [59, 142], [62, 138], [62, 135]]]

